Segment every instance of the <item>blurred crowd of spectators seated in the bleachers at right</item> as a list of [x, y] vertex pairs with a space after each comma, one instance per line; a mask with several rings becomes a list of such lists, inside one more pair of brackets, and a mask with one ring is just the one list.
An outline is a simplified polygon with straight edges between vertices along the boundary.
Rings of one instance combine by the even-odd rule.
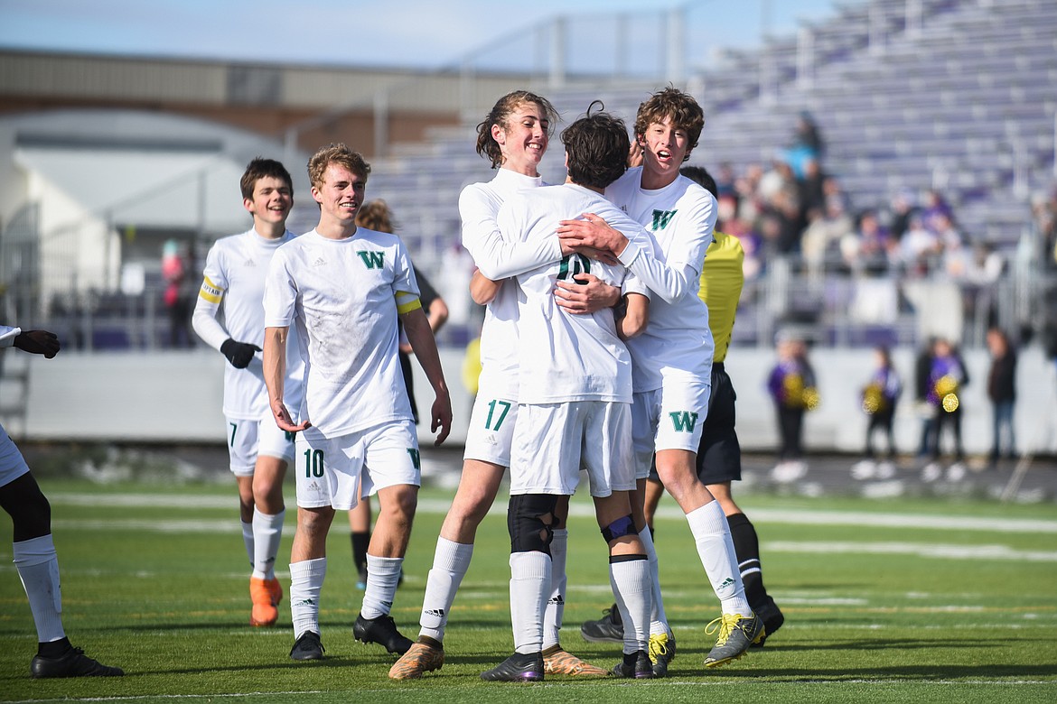
[[[793, 139], [769, 165], [741, 173], [729, 164], [718, 166], [717, 228], [741, 240], [746, 279], [761, 275], [777, 256], [814, 274], [940, 274], [969, 286], [986, 286], [1002, 274], [1003, 255], [969, 241], [943, 194], [904, 189], [888, 204], [853, 210], [839, 178], [827, 172], [824, 154], [818, 128], [803, 113]], [[1055, 211], [1047, 212], [1052, 231]]]

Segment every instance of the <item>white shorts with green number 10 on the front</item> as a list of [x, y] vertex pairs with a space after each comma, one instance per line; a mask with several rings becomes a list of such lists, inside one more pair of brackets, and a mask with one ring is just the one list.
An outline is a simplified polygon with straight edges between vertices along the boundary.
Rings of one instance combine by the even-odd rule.
[[[297, 434], [297, 506], [341, 511], [396, 484], [422, 484], [414, 423], [395, 420], [328, 438], [318, 429]], [[358, 491], [357, 491], [358, 490]]]

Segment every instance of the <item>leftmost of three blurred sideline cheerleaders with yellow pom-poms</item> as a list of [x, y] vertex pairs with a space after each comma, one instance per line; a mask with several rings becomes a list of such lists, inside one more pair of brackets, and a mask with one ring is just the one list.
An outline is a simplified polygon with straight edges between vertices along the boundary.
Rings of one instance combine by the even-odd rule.
[[818, 405], [818, 389], [803, 340], [782, 332], [777, 353], [778, 362], [767, 377], [767, 391], [775, 402], [781, 446], [771, 477], [778, 482], [791, 482], [808, 473], [803, 460], [803, 415]]

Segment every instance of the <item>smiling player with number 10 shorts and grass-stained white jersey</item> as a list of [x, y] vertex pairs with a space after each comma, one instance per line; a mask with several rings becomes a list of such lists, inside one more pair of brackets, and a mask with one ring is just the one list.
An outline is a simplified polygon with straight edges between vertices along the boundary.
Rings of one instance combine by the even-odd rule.
[[[335, 509], [377, 494], [367, 589], [353, 625], [365, 643], [404, 654], [389, 611], [418, 503], [421, 469], [411, 406], [397, 359], [397, 318], [435, 393], [437, 443], [451, 401], [411, 260], [400, 237], [356, 226], [370, 166], [345, 145], [309, 160], [319, 224], [279, 248], [264, 285], [264, 381], [279, 427], [297, 432], [297, 531], [291, 550], [293, 660], [323, 657], [319, 592]], [[283, 403], [286, 339], [296, 325], [307, 375], [300, 422]]]

